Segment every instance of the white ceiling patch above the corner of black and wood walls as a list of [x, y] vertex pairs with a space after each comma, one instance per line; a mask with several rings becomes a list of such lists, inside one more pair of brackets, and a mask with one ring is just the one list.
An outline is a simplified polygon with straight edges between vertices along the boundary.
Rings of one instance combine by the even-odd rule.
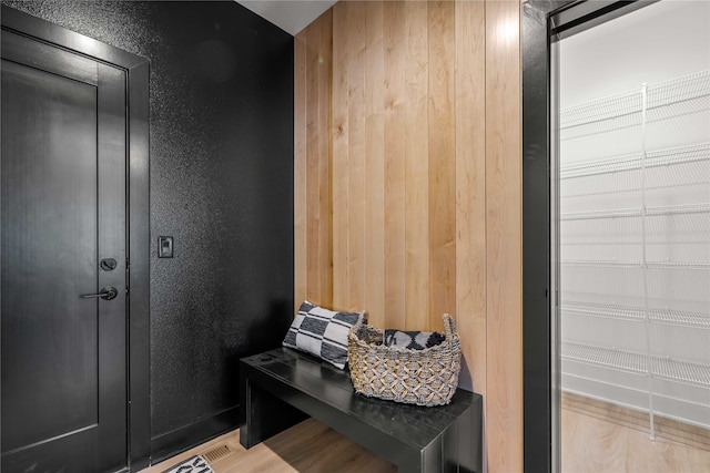
[[236, 0], [254, 13], [295, 35], [337, 0]]

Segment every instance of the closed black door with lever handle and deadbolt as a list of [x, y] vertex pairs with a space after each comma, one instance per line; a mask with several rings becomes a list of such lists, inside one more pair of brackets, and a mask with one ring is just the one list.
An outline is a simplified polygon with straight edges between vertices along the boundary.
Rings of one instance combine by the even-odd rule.
[[120, 470], [125, 72], [8, 31], [1, 51], [2, 472]]

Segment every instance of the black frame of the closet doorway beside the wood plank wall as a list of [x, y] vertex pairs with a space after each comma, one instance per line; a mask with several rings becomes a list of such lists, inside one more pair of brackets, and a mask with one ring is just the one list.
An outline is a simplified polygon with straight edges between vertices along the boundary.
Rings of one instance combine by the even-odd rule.
[[[552, 43], [658, 0], [527, 0], [523, 60], [523, 441], [524, 470], [560, 471], [560, 357], [552, 245], [557, 63]], [[540, 225], [542, 223], [542, 225]], [[542, 277], [544, 276], [544, 277]]]

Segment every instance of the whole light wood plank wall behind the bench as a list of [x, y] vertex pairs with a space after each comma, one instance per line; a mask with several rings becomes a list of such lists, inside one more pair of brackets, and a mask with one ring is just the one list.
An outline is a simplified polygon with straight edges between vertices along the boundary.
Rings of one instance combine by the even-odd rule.
[[341, 1], [295, 38], [296, 306], [452, 313], [490, 472], [523, 470], [519, 25], [516, 0]]

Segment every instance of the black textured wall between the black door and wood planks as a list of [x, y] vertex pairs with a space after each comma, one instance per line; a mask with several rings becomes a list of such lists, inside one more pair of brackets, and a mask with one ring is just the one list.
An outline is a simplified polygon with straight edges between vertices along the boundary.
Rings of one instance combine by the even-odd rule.
[[[232, 1], [2, 3], [151, 62], [151, 425], [165, 456], [232, 426], [237, 359], [293, 318], [293, 38]], [[156, 257], [160, 235], [173, 259]]]

